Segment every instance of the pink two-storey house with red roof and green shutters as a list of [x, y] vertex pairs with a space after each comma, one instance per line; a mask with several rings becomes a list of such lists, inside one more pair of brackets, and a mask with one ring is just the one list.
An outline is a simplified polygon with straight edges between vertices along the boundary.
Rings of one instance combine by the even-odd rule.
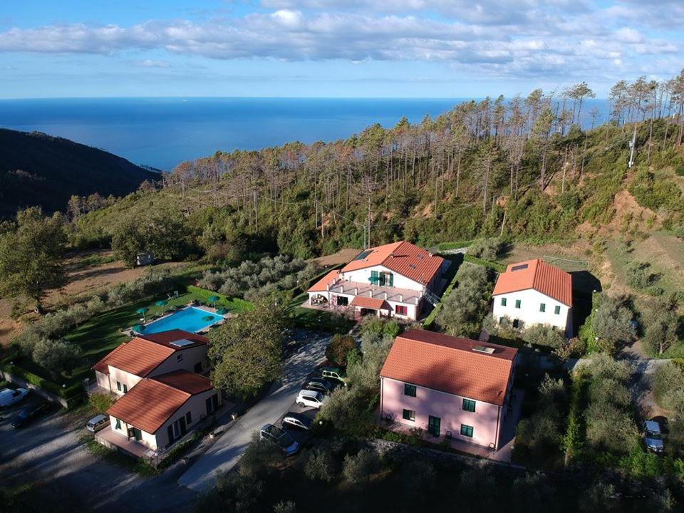
[[435, 437], [498, 450], [516, 355], [515, 348], [443, 333], [403, 333], [380, 371], [380, 413]]

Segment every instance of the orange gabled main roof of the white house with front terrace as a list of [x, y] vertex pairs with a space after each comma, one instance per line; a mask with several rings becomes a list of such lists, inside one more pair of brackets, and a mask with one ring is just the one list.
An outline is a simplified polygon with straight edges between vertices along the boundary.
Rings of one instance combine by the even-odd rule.
[[440, 270], [443, 261], [442, 257], [431, 254], [427, 249], [401, 241], [366, 249], [359, 253], [356, 259], [346, 264], [342, 272], [382, 265], [408, 279], [427, 284]]

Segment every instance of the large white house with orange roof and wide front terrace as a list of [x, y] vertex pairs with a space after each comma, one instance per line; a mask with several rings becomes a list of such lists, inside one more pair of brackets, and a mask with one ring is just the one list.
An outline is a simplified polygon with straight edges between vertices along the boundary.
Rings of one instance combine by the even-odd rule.
[[363, 250], [309, 289], [309, 305], [415, 321], [436, 304], [450, 262], [410, 242]]

